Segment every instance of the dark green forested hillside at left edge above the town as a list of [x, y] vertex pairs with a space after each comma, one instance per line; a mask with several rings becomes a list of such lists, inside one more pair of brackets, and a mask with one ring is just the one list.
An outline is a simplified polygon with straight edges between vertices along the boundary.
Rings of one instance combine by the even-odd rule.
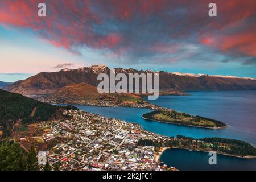
[[22, 124], [44, 121], [56, 117], [57, 106], [0, 89], [0, 125], [4, 135], [9, 135], [16, 121]]

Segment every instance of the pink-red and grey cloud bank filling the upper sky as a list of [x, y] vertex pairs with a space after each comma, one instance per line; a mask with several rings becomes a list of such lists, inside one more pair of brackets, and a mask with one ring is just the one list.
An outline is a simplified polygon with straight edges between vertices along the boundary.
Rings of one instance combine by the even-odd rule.
[[45, 1], [47, 18], [36, 16], [39, 2], [1, 1], [0, 23], [32, 28], [71, 52], [107, 50], [126, 63], [255, 62], [254, 0], [215, 1], [217, 18], [208, 16], [208, 0]]

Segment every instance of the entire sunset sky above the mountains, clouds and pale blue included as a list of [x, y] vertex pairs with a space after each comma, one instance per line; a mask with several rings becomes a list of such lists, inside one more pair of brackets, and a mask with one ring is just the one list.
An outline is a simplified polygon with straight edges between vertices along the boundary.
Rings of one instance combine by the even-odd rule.
[[[46, 4], [46, 17], [38, 4]], [[209, 17], [209, 3], [217, 17]], [[0, 81], [106, 64], [256, 78], [255, 0], [0, 0]]]

